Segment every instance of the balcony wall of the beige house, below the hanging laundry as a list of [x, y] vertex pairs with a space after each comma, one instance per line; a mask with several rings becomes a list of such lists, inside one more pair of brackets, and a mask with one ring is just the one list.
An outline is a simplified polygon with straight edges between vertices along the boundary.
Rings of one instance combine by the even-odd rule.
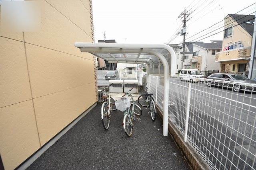
[[250, 57], [250, 47], [240, 47], [216, 53], [215, 62], [243, 60]]

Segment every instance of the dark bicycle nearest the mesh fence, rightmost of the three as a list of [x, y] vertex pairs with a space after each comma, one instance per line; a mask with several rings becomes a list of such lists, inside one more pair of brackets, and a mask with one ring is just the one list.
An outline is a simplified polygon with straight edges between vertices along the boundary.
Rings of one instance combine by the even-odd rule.
[[156, 106], [155, 106], [153, 94], [148, 94], [147, 84], [148, 83], [146, 83], [146, 93], [141, 94], [138, 97], [138, 103], [141, 106], [148, 107], [150, 109], [148, 113], [150, 113], [152, 121], [156, 121]]

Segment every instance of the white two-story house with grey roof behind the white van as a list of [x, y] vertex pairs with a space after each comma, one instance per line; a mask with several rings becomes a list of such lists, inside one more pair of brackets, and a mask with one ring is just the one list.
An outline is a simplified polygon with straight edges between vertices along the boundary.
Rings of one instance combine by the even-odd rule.
[[215, 63], [215, 55], [220, 52], [222, 41], [211, 41], [211, 43], [193, 43], [192, 59], [188, 60], [191, 68], [201, 71], [219, 70], [220, 64]]

